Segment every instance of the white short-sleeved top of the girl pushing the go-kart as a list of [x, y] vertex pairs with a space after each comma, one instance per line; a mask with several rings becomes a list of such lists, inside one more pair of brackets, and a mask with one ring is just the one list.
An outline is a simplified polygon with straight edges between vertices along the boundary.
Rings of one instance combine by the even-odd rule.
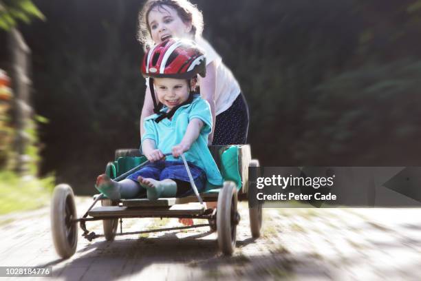
[[[221, 114], [233, 105], [241, 89], [237, 80], [235, 80], [233, 72], [224, 65], [221, 56], [212, 48], [208, 41], [203, 37], [199, 37], [195, 42], [205, 52], [206, 65], [215, 61], [215, 115]], [[199, 76], [199, 79], [202, 79], [202, 77]], [[146, 79], [146, 85], [149, 86], [149, 79]]]

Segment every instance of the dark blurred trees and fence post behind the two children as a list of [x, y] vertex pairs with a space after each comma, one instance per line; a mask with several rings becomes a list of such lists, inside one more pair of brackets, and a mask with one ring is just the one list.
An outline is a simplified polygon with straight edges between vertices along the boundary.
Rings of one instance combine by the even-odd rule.
[[[420, 0], [192, 2], [261, 165], [421, 165]], [[115, 149], [139, 147], [142, 4], [0, 1], [1, 188], [26, 176], [94, 194]]]

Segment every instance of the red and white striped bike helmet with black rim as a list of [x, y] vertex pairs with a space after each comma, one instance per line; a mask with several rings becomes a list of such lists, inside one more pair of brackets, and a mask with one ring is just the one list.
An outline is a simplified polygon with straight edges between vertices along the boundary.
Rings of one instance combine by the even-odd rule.
[[142, 74], [151, 78], [191, 79], [196, 74], [204, 77], [206, 57], [191, 40], [167, 39], [144, 54]]

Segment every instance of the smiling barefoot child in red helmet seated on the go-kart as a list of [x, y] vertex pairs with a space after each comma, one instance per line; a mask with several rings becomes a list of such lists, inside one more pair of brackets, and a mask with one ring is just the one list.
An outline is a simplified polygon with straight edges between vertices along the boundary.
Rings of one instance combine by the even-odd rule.
[[[193, 41], [167, 39], [144, 56], [142, 74], [149, 77], [154, 112], [144, 120], [142, 152], [151, 162], [125, 180], [116, 182], [98, 176], [96, 189], [111, 200], [136, 198], [146, 191], [149, 200], [180, 197], [193, 193], [182, 153], [188, 161], [198, 191], [206, 181], [222, 185], [207, 147], [212, 129], [209, 104], [193, 92], [197, 74], [206, 74], [206, 59]], [[155, 90], [153, 89], [155, 88]], [[153, 94], [155, 96], [155, 94]], [[164, 160], [164, 154], [171, 152]]]

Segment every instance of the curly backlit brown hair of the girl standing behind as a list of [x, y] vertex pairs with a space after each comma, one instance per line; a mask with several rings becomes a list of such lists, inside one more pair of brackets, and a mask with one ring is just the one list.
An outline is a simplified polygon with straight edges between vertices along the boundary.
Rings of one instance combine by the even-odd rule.
[[149, 12], [153, 8], [162, 8], [168, 6], [177, 11], [178, 17], [182, 19], [184, 23], [191, 23], [191, 34], [193, 39], [202, 35], [203, 31], [203, 15], [202, 12], [197, 9], [197, 6], [193, 5], [187, 0], [149, 0], [144, 4], [142, 10], [138, 14], [138, 41], [144, 46], [149, 48], [154, 45], [151, 37], [151, 28], [148, 23]]

